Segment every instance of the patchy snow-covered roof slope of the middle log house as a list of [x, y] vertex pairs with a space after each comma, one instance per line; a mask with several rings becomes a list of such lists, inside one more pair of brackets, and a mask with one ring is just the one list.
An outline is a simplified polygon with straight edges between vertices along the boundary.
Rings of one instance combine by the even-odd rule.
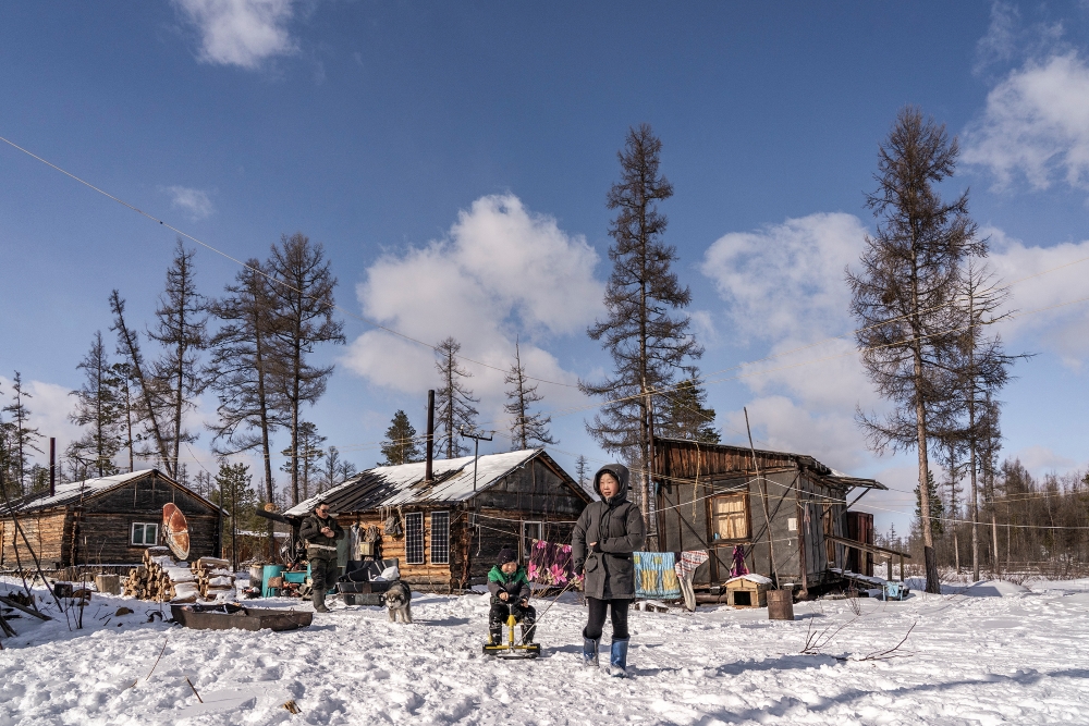
[[[284, 512], [289, 517], [309, 514], [319, 502], [328, 502], [334, 512], [358, 512], [383, 506], [420, 504], [424, 502], [464, 502], [476, 492], [488, 489], [514, 469], [534, 457], [544, 454], [543, 448], [527, 448], [505, 454], [486, 454], [476, 466], [476, 488], [473, 483], [473, 457], [436, 459], [431, 467], [433, 483], [425, 484], [426, 464], [380, 466], [362, 471], [343, 484], [311, 496]], [[550, 458], [550, 457], [549, 457]], [[559, 471], [559, 465], [555, 467]], [[570, 479], [570, 477], [567, 477]], [[577, 489], [577, 482], [572, 482]]]

